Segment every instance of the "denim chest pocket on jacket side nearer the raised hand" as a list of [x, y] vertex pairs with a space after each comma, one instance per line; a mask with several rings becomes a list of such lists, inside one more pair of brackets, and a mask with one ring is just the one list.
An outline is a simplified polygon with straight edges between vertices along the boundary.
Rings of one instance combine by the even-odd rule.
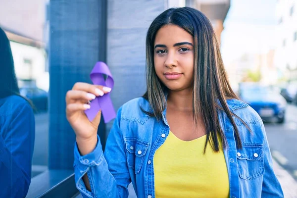
[[136, 138], [125, 138], [127, 150], [127, 164], [134, 169], [135, 174], [139, 173], [148, 150], [148, 143]]

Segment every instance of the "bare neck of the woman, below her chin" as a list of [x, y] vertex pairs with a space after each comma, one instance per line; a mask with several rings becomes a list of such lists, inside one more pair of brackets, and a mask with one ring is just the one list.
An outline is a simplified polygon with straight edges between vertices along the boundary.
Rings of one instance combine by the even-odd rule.
[[192, 111], [192, 90], [169, 91], [167, 97], [167, 107], [178, 111]]

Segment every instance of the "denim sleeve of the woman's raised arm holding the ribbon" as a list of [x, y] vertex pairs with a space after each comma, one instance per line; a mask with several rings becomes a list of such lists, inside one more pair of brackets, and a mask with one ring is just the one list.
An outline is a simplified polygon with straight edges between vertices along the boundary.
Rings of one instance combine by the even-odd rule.
[[[118, 110], [106, 141], [103, 154], [99, 136], [96, 148], [81, 156], [77, 144], [74, 149], [74, 170], [77, 189], [84, 198], [127, 198], [131, 183], [126, 151], [120, 131], [121, 108]], [[82, 177], [87, 174], [91, 192], [86, 189]]]

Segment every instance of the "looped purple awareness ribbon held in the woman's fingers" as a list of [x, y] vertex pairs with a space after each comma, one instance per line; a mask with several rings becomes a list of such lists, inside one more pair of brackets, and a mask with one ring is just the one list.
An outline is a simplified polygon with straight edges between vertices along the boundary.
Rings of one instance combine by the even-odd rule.
[[[106, 80], [104, 80], [103, 74], [107, 76]], [[97, 62], [95, 64], [90, 77], [94, 85], [102, 85], [104, 87], [109, 87], [112, 90], [112, 75], [108, 69], [108, 66], [104, 62]], [[102, 110], [101, 113], [103, 115], [105, 123], [115, 118], [116, 114], [109, 93], [104, 94], [103, 96], [96, 97], [96, 99], [91, 101], [90, 105], [91, 108], [85, 110], [85, 114], [90, 121], [92, 121], [96, 117], [100, 109]]]

